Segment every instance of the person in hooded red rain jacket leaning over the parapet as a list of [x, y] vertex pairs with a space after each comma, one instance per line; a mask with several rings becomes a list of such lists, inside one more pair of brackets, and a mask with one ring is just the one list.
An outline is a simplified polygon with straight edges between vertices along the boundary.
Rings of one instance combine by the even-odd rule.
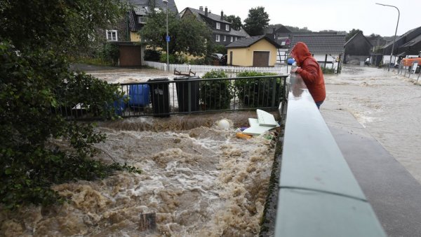
[[326, 99], [326, 89], [324, 85], [323, 72], [319, 63], [312, 57], [307, 45], [298, 42], [290, 55], [297, 62], [298, 68], [291, 70], [291, 73], [299, 73], [305, 85], [309, 89], [317, 108], [320, 108], [324, 99]]

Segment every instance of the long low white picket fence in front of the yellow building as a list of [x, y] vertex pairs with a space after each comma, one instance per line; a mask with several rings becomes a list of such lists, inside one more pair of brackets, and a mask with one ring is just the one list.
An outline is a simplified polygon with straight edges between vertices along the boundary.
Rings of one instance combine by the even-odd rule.
[[[144, 61], [144, 65], [151, 66], [154, 69], [167, 71], [167, 65], [161, 62]], [[225, 71], [227, 73], [239, 73], [242, 71], [258, 71], [260, 73], [278, 73], [286, 75], [290, 70], [290, 66], [276, 66], [276, 67], [250, 67], [250, 66], [210, 66], [210, 65], [191, 65], [191, 64], [169, 64], [168, 71], [176, 71], [185, 73], [192, 72], [204, 73], [207, 71]]]

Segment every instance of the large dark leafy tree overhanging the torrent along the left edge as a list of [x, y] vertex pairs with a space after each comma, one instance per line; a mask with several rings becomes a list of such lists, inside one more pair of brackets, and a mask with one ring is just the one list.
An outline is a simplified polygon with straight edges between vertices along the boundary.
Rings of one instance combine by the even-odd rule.
[[0, 13], [0, 208], [64, 201], [51, 185], [138, 171], [91, 159], [105, 135], [65, 117], [76, 105], [116, 117], [118, 85], [71, 71], [66, 58], [88, 48], [95, 29], [121, 19], [120, 1], [1, 1]]

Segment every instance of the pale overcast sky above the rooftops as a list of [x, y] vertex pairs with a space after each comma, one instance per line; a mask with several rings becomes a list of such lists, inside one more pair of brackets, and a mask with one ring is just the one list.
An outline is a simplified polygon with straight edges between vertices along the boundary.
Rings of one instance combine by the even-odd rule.
[[263, 6], [269, 14], [269, 24], [307, 27], [312, 31], [332, 29], [350, 31], [361, 29], [364, 35], [394, 36], [398, 10], [401, 16], [397, 35], [421, 27], [421, 0], [175, 0], [178, 11], [191, 7], [208, 6], [212, 13], [236, 15], [241, 21], [248, 17], [248, 10]]

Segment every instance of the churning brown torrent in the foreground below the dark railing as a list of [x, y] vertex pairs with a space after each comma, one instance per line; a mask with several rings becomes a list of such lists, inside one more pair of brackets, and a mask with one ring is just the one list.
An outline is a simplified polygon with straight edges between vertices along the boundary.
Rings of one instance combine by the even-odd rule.
[[[257, 236], [274, 141], [236, 138], [255, 113], [199, 116], [100, 124], [97, 158], [142, 173], [56, 185], [68, 203], [3, 210], [0, 236]], [[215, 125], [222, 118], [229, 129]], [[155, 229], [142, 228], [149, 213]]]

